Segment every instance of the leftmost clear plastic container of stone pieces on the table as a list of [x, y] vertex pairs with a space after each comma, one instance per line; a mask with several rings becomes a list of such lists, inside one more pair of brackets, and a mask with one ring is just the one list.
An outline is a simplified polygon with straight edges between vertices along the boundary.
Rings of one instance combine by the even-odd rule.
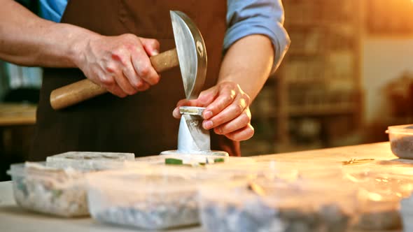
[[26, 163], [11, 165], [8, 175], [15, 201], [22, 208], [62, 217], [89, 215], [84, 173]]

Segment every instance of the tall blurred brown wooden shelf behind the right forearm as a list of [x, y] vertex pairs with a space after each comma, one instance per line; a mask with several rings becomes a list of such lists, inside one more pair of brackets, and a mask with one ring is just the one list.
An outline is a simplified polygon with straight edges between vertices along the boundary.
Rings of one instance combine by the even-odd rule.
[[243, 154], [359, 142], [361, 2], [283, 1], [292, 42], [251, 106], [255, 136], [242, 143]]

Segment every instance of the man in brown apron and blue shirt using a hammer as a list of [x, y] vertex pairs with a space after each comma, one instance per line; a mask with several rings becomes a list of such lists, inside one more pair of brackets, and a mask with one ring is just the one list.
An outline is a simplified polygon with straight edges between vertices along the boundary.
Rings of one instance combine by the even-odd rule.
[[[281, 0], [40, 3], [47, 20], [13, 0], [0, 0], [0, 59], [49, 67], [31, 160], [70, 150], [144, 156], [175, 149], [179, 122], [170, 116], [173, 106], [206, 107], [203, 126], [215, 132], [211, 147], [240, 155], [238, 141], [253, 136], [249, 105], [289, 44]], [[179, 68], [161, 78], [149, 59], [160, 45], [174, 48], [169, 10], [187, 13], [207, 46], [206, 90], [193, 101], [179, 101], [184, 98]], [[111, 94], [66, 110], [50, 108], [53, 89], [83, 78]], [[179, 117], [177, 108], [173, 115]]]

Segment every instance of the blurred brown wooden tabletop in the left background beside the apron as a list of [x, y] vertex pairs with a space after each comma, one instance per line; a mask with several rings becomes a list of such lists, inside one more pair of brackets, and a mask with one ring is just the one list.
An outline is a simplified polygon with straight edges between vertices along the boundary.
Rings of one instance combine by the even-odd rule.
[[36, 123], [36, 106], [0, 104], [0, 126], [31, 125]]

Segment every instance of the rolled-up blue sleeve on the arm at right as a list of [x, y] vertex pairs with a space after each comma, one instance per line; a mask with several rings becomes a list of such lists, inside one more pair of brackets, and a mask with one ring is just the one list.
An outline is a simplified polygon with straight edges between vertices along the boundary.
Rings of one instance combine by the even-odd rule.
[[233, 43], [245, 36], [265, 35], [274, 45], [274, 72], [290, 45], [283, 21], [281, 0], [228, 0], [228, 30], [225, 34], [224, 50], [228, 50]]

